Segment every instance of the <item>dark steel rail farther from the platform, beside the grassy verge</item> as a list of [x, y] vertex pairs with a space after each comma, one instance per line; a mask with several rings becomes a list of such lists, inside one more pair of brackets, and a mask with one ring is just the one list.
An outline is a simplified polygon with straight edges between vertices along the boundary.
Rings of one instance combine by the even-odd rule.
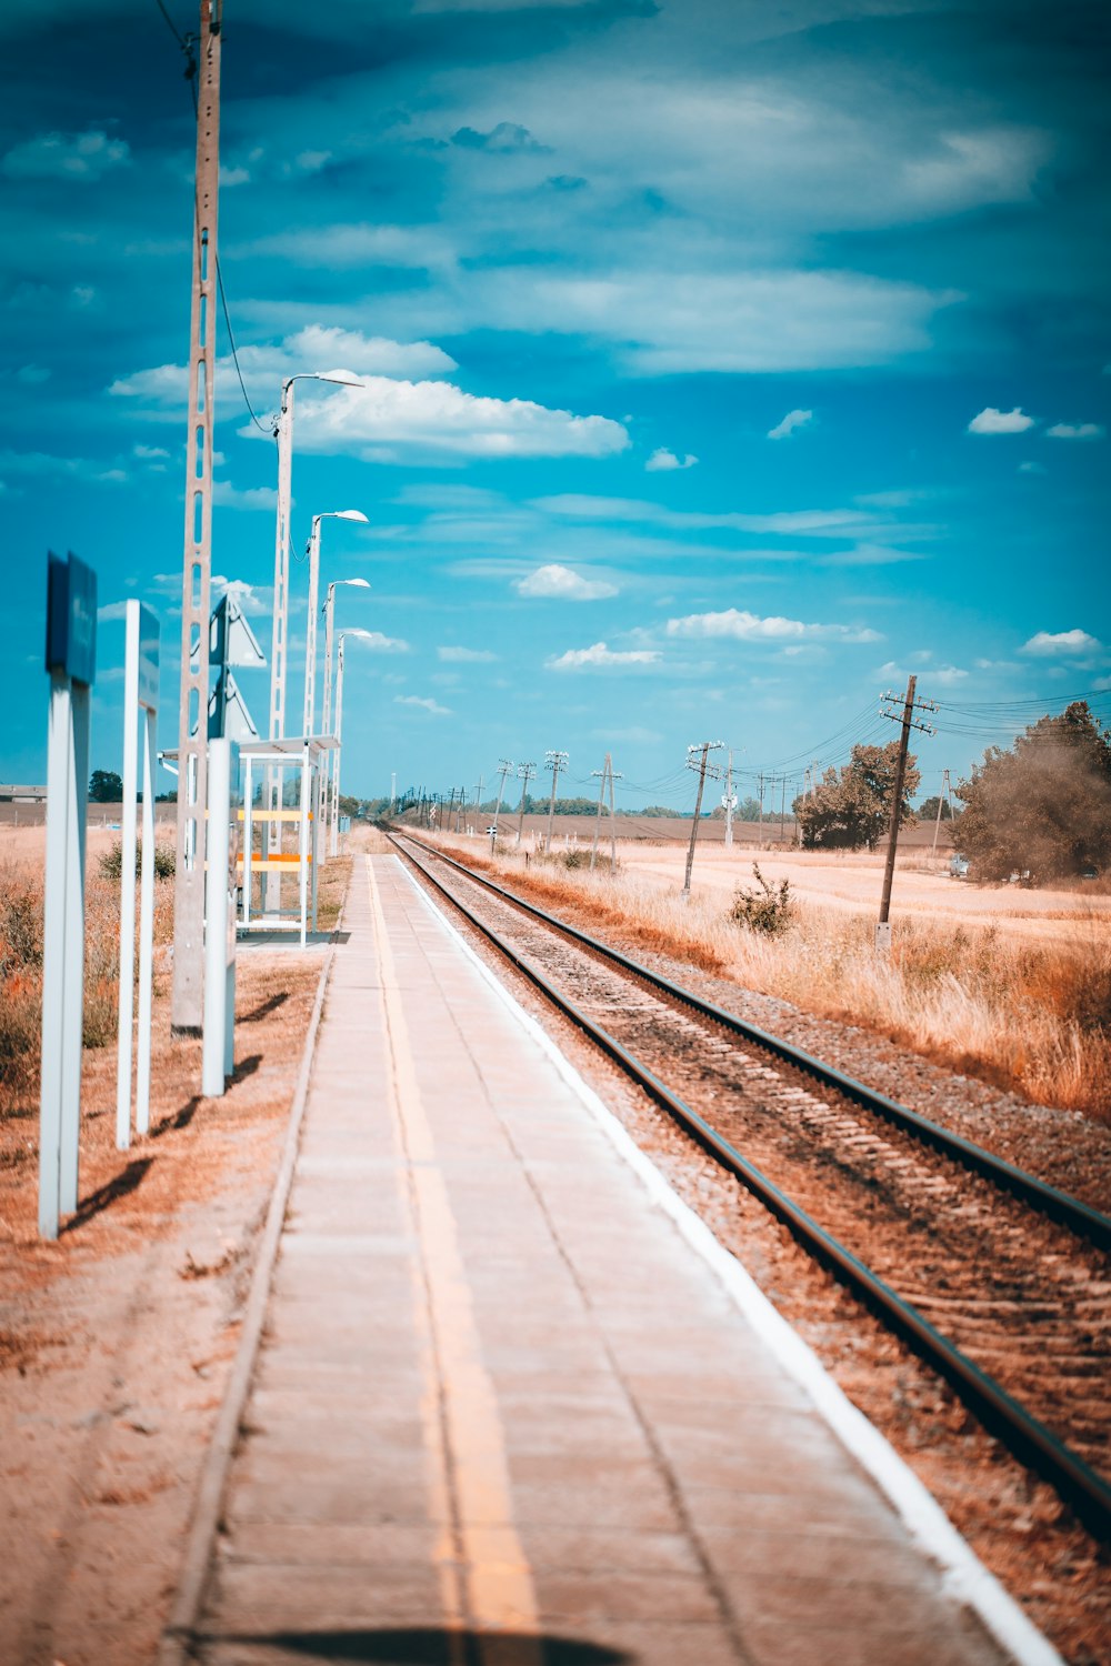
[[586, 931], [580, 931], [578, 926], [568, 925], [566, 920], [545, 913], [543, 908], [526, 901], [523, 896], [516, 896], [513, 891], [506, 891], [505, 886], [495, 885], [493, 880], [486, 880], [481, 873], [475, 873], [465, 863], [456, 861], [453, 856], [446, 856], [431, 845], [425, 845], [421, 840], [411, 840], [411, 843], [426, 851], [430, 856], [435, 856], [438, 861], [446, 863], [450, 868], [458, 868], [458, 871], [465, 873], [475, 881], [475, 885], [483, 885], [503, 901], [533, 915], [536, 920], [543, 920], [545, 925], [553, 926], [556, 931], [563, 931], [566, 936], [575, 938], [575, 941], [591, 950], [591, 953], [601, 955], [605, 960], [613, 961], [625, 971], [643, 978], [663, 995], [671, 996], [671, 1000], [681, 1001], [693, 1011], [701, 1013], [703, 1018], [711, 1018], [725, 1030], [733, 1031], [733, 1035], [738, 1035], [746, 1041], [755, 1041], [758, 1046], [775, 1053], [785, 1063], [793, 1065], [796, 1070], [805, 1071], [808, 1076], [816, 1078], [830, 1088], [836, 1088], [836, 1091], [846, 1100], [853, 1100], [856, 1105], [868, 1111], [874, 1111], [876, 1116], [884, 1118], [884, 1121], [893, 1126], [901, 1128], [916, 1140], [921, 1140], [923, 1145], [933, 1146], [933, 1150], [941, 1151], [944, 1156], [953, 1158], [966, 1168], [971, 1168], [974, 1173], [983, 1175], [986, 1180], [994, 1181], [994, 1185], [1003, 1186], [1013, 1196], [1021, 1198], [1023, 1203], [1028, 1203], [1041, 1215], [1058, 1221], [1061, 1226], [1068, 1226], [1069, 1231], [1076, 1233], [1079, 1238], [1088, 1238], [1093, 1245], [1096, 1245], [1096, 1248], [1111, 1250], [1111, 1218], [1101, 1215], [1099, 1210], [1093, 1210], [1091, 1205], [1081, 1203], [1079, 1198], [1073, 1198], [1068, 1191], [1059, 1191], [1056, 1186], [1049, 1186], [1044, 1180], [1038, 1180], [1036, 1175], [1028, 1175], [1026, 1170], [1018, 1168], [1014, 1163], [1008, 1163], [1006, 1158], [996, 1156], [993, 1151], [986, 1151], [974, 1141], [964, 1140], [961, 1135], [954, 1135], [948, 1128], [941, 1128], [938, 1123], [931, 1123], [929, 1118], [923, 1116], [919, 1111], [911, 1111], [909, 1106], [899, 1105], [898, 1100], [891, 1100], [884, 1093], [868, 1088], [863, 1081], [856, 1081], [854, 1076], [846, 1076], [844, 1071], [838, 1070], [834, 1065], [823, 1063], [823, 1060], [815, 1058], [813, 1053], [806, 1053], [803, 1048], [785, 1041], [781, 1036], [773, 1036], [768, 1030], [761, 1030], [758, 1025], [748, 1023], [735, 1013], [728, 1013], [723, 1006], [715, 1006], [713, 1001], [705, 1001], [691, 990], [685, 990], [680, 983], [671, 983], [670, 978], [661, 976], [658, 971], [651, 971], [650, 966], [641, 966], [640, 961], [630, 960], [628, 955], [623, 955], [616, 948], [610, 948], [606, 943], [600, 943], [598, 938], [590, 936]]

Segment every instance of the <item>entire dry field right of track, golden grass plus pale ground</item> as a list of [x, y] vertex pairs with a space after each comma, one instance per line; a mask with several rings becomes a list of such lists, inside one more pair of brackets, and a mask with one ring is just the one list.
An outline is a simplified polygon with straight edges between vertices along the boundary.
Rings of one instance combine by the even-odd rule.
[[[468, 858], [490, 855], [488, 840], [453, 843]], [[568, 868], [581, 858], [561, 848], [528, 851], [526, 868], [528, 843], [518, 851], [506, 840], [496, 866], [556, 913], [566, 901], [641, 950], [874, 1030], [1038, 1103], [1111, 1118], [1111, 896], [973, 886], [909, 851], [894, 876], [893, 951], [879, 956], [881, 855], [700, 846], [685, 901], [681, 845], [620, 841], [618, 873], [600, 860], [591, 875]], [[790, 881], [781, 936], [731, 918], [753, 860], [768, 880]]]

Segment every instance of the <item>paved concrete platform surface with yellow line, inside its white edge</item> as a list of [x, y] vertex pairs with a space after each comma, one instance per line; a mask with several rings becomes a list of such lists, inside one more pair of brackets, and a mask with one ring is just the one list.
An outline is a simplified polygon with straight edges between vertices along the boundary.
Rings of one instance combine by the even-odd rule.
[[200, 1658], [1009, 1658], [396, 858], [345, 926]]

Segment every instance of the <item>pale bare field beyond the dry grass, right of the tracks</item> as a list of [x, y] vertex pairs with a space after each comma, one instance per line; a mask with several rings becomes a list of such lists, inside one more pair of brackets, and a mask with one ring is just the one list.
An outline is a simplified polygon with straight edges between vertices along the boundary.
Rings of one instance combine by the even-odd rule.
[[[750, 885], [753, 861], [771, 881], [788, 878], [801, 903], [823, 903], [846, 913], [874, 918], [883, 883], [881, 855], [841, 856], [820, 851], [753, 853], [751, 850], [700, 846], [695, 851], [693, 888], [731, 893]], [[660, 885], [683, 883], [686, 851], [681, 848], [618, 843], [621, 866]], [[934, 866], [936, 871], [929, 871]], [[949, 876], [946, 865], [928, 856], [899, 858], [891, 886], [891, 921], [899, 916], [996, 926], [1008, 936], [1038, 943], [1084, 943], [1111, 930], [1111, 896], [1086, 890], [1024, 890], [1018, 885], [969, 885]]]

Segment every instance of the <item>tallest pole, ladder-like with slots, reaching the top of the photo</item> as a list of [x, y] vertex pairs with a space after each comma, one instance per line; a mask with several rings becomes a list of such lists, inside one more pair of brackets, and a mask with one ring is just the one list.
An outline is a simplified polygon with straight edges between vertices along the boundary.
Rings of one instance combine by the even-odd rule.
[[197, 188], [185, 443], [182, 710], [173, 880], [172, 1026], [198, 1031], [205, 976], [205, 815], [208, 806], [208, 608], [212, 580], [212, 425], [217, 360], [217, 210], [220, 200], [220, 15], [200, 0]]

